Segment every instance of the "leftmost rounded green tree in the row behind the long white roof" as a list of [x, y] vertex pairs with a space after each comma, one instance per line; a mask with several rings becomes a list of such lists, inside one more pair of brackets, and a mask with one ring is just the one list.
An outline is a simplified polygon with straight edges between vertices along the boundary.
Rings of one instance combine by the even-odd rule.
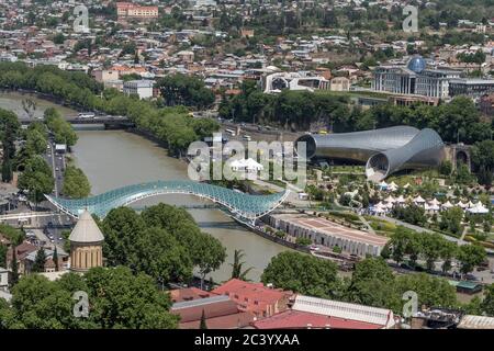
[[338, 295], [340, 290], [334, 262], [294, 251], [273, 257], [261, 281], [279, 288], [324, 298]]

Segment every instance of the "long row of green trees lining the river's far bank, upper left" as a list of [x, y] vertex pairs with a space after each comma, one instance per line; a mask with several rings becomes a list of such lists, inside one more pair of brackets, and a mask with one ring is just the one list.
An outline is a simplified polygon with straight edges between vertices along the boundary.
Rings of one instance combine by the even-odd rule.
[[[161, 109], [161, 105], [166, 104], [161, 100], [143, 101], [115, 89], [102, 91], [101, 84], [89, 76], [63, 71], [54, 66], [29, 68], [22, 63], [0, 63], [0, 87], [36, 90], [81, 110], [128, 116], [138, 128], [151, 133], [166, 143], [172, 155], [180, 155], [191, 141], [203, 138], [220, 127], [213, 120], [190, 117], [189, 111], [182, 106]], [[190, 93], [186, 99], [188, 105], [195, 105], [201, 101], [201, 97], [209, 95], [201, 88], [188, 90], [188, 93]], [[183, 102], [183, 98], [181, 101]], [[58, 118], [55, 121], [55, 129], [60, 129], [60, 135], [67, 136], [63, 123]], [[71, 143], [70, 139], [67, 141]]]

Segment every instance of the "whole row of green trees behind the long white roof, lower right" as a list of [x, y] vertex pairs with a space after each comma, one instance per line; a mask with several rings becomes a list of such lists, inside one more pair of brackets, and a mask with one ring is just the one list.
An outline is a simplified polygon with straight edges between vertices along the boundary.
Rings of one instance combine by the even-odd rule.
[[336, 272], [332, 261], [287, 251], [271, 259], [261, 280], [295, 293], [391, 308], [397, 314], [402, 314], [402, 296], [407, 291], [418, 294], [419, 306], [459, 305], [447, 280], [425, 273], [394, 275], [382, 258], [356, 263], [351, 279], [339, 279]]

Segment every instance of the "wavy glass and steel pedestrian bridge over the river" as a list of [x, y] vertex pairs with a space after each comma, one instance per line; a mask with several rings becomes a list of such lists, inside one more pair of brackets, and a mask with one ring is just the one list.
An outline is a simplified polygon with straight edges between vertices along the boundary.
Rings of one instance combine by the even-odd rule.
[[139, 200], [164, 194], [186, 194], [207, 199], [226, 207], [232, 215], [254, 220], [278, 207], [289, 191], [272, 195], [249, 195], [226, 188], [194, 181], [155, 181], [124, 186], [87, 199], [60, 199], [45, 195], [59, 211], [78, 218], [87, 210], [100, 218], [112, 210]]

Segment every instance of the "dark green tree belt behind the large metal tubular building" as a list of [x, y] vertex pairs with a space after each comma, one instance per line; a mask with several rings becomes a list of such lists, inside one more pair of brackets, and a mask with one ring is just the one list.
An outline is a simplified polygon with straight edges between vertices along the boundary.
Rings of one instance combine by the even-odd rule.
[[491, 125], [481, 121], [471, 99], [458, 97], [439, 106], [397, 106], [380, 104], [367, 111], [349, 106], [349, 98], [327, 92], [284, 90], [263, 94], [251, 82], [244, 82], [243, 93], [224, 97], [220, 115], [235, 121], [273, 124], [295, 131], [307, 131], [322, 122], [334, 132], [355, 132], [411, 125], [433, 128], [445, 141], [475, 143], [491, 138]]

